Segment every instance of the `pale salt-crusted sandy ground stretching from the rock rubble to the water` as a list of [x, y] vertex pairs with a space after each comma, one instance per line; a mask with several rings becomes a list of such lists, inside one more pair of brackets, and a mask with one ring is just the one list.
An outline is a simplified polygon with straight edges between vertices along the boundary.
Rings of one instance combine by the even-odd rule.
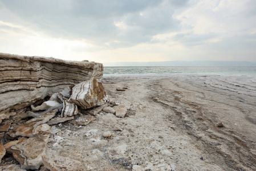
[[[56, 125], [47, 154], [79, 160], [84, 170], [256, 169], [255, 76], [104, 75], [101, 81], [109, 100], [127, 106], [127, 116], [100, 112], [84, 127]], [[128, 89], [116, 91], [121, 87]], [[105, 131], [114, 136], [104, 138]]]

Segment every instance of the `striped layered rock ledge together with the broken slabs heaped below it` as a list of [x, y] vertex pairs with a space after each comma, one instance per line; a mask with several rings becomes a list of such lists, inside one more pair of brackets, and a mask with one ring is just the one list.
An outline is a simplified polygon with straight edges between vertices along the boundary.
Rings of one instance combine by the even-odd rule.
[[[68, 121], [80, 125], [80, 128], [94, 121], [94, 116], [104, 108], [106, 112], [124, 117], [127, 112], [124, 105], [120, 105], [120, 108], [115, 106], [115, 111], [112, 107], [116, 103], [107, 103], [104, 87], [99, 81], [102, 65], [10, 56], [10, 59], [0, 58], [3, 62], [0, 63], [3, 66], [0, 70], [0, 95], [4, 99], [0, 101], [0, 161], [3, 158], [6, 164], [0, 170], [81, 170], [79, 161], [62, 156], [46, 156], [46, 145], [52, 136], [51, 125], [62, 125], [60, 123]], [[93, 69], [90, 72], [85, 69], [88, 65], [88, 70]], [[31, 69], [28, 69], [29, 66]], [[18, 71], [20, 76], [17, 75]], [[79, 72], [82, 73], [79, 75]], [[104, 137], [113, 136], [110, 132]], [[17, 161], [21, 168], [13, 165]]]

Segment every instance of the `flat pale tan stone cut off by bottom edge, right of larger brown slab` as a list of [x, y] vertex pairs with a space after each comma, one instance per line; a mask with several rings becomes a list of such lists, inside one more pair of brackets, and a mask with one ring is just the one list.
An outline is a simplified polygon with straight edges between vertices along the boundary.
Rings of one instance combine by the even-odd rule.
[[66, 171], [78, 171], [82, 170], [81, 162], [77, 160], [73, 160], [69, 157], [62, 157], [62, 156], [55, 156], [55, 157], [47, 157], [43, 156], [43, 164], [46, 166], [47, 169], [51, 171], [59, 171], [59, 170], [66, 170]]

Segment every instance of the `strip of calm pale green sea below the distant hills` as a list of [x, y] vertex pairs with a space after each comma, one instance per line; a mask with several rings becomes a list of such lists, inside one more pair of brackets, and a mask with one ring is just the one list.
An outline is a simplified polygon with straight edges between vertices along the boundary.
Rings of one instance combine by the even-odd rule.
[[104, 74], [256, 75], [256, 67], [104, 67]]

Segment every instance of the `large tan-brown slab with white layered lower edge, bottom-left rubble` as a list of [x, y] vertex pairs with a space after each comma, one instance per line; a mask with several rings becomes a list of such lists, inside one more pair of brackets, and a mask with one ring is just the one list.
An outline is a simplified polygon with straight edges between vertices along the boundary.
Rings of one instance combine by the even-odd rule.
[[42, 165], [42, 156], [45, 155], [48, 138], [49, 134], [45, 133], [23, 140], [21, 143], [11, 146], [10, 152], [21, 164], [22, 169], [38, 169]]

